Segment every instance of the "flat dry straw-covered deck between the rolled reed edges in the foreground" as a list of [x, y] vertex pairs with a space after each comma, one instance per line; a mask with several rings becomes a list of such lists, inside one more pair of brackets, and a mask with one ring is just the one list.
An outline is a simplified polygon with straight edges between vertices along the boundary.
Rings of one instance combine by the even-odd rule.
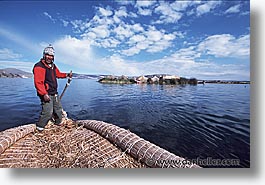
[[[31, 126], [23, 126], [23, 128]], [[18, 129], [6, 133], [15, 134]], [[142, 168], [144, 164], [122, 152], [99, 134], [67, 120], [64, 127], [49, 124], [0, 154], [0, 167], [13, 168]], [[15, 132], [15, 133], [13, 133]], [[1, 133], [1, 135], [3, 135]], [[1, 137], [1, 139], [3, 139]]]

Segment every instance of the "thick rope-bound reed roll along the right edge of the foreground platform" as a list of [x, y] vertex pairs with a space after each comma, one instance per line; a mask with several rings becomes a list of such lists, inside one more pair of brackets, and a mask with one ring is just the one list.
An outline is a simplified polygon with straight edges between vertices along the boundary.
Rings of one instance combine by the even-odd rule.
[[140, 138], [129, 130], [95, 120], [80, 120], [77, 123], [107, 138], [111, 143], [149, 167], [199, 168], [198, 165]]

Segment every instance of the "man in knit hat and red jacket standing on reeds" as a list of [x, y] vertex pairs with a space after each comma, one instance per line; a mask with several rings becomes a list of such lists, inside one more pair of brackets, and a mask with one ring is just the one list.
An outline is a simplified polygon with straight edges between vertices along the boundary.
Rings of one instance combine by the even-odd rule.
[[61, 73], [54, 64], [54, 49], [51, 45], [43, 51], [43, 58], [34, 65], [34, 85], [41, 100], [42, 111], [37, 129], [42, 131], [48, 121], [55, 115], [55, 124], [62, 122], [62, 104], [57, 92], [57, 79], [72, 77], [72, 72]]

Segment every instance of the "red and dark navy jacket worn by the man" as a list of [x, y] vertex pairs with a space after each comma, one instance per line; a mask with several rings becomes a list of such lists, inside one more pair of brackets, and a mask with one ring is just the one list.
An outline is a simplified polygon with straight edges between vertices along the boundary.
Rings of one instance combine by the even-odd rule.
[[48, 66], [43, 59], [35, 64], [33, 74], [37, 94], [40, 97], [45, 94], [58, 94], [56, 78], [67, 77], [67, 73], [61, 73], [55, 64], [52, 64], [52, 67]]

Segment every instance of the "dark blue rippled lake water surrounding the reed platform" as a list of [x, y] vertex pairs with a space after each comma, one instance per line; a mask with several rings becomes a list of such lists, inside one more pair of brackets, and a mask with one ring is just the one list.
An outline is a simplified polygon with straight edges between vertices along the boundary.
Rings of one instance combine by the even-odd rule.
[[[62, 92], [66, 79], [58, 80]], [[0, 130], [38, 121], [33, 79], [0, 78]], [[72, 119], [113, 123], [187, 159], [250, 166], [250, 85], [116, 85], [73, 79], [62, 105]]]

